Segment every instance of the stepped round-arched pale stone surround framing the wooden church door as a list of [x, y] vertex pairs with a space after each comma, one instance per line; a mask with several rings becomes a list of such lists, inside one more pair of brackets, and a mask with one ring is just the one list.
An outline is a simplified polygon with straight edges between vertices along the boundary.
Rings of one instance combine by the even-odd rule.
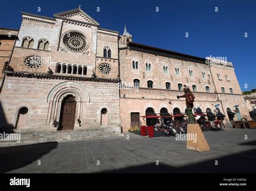
[[62, 101], [67, 95], [72, 95], [76, 101], [75, 127], [84, 124], [86, 102], [90, 102], [89, 93], [83, 85], [74, 81], [65, 81], [53, 87], [48, 94], [49, 111], [46, 125], [58, 126], [60, 124]]

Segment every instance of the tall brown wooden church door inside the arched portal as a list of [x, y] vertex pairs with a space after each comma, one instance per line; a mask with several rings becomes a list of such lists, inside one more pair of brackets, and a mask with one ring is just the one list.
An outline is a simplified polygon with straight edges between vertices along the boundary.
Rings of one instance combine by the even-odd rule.
[[60, 114], [60, 129], [74, 129], [76, 118], [76, 101], [73, 95], [68, 95], [62, 101], [62, 110]]

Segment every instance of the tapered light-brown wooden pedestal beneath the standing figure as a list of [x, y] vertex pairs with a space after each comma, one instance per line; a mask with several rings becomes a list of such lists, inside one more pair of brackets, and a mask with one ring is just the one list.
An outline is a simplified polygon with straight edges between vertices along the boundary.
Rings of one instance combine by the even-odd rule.
[[199, 124], [187, 124], [187, 137], [196, 137], [196, 140], [187, 140], [187, 149], [199, 152], [210, 151]]

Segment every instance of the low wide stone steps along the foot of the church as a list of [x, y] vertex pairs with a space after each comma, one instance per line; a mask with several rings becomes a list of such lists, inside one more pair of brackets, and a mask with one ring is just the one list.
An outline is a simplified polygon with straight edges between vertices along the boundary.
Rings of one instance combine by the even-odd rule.
[[[3, 132], [0, 133], [3, 134]], [[53, 131], [39, 128], [9, 129], [5, 130], [5, 134], [6, 133], [20, 133], [21, 141], [17, 142], [0, 140], [0, 147], [39, 144], [43, 142], [63, 142], [121, 136], [120, 132], [115, 132], [114, 129], [111, 127], [96, 127], [67, 131]]]

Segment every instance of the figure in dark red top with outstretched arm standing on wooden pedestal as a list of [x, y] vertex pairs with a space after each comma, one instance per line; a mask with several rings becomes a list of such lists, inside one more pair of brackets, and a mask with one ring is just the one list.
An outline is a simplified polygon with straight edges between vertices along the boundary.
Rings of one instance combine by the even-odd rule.
[[184, 85], [183, 91], [185, 92], [184, 95], [177, 96], [177, 98], [186, 98], [186, 110], [185, 113], [187, 114], [188, 120], [190, 121], [190, 124], [195, 123], [195, 119], [193, 116], [193, 107], [194, 107], [194, 94], [190, 91], [190, 88], [186, 85]]

